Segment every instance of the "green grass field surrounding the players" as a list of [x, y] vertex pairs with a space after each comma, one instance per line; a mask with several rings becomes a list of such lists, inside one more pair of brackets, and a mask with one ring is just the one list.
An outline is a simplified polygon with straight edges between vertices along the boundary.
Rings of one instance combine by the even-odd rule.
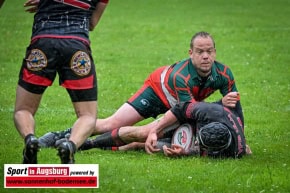
[[[23, 141], [13, 121], [19, 67], [29, 44], [33, 15], [24, 0], [0, 9], [0, 192], [3, 165], [21, 163]], [[165, 64], [187, 58], [191, 36], [210, 32], [217, 60], [229, 65], [241, 93], [247, 142], [253, 155], [240, 160], [169, 159], [143, 151], [90, 150], [79, 164], [99, 164], [99, 189], [31, 189], [29, 192], [290, 192], [290, 1], [111, 0], [91, 34], [99, 83], [99, 117], [112, 114]], [[38, 136], [70, 127], [75, 120], [58, 81], [36, 115]], [[219, 93], [209, 101], [220, 98]], [[146, 120], [147, 123], [151, 120]], [[43, 149], [39, 163], [59, 163]]]

